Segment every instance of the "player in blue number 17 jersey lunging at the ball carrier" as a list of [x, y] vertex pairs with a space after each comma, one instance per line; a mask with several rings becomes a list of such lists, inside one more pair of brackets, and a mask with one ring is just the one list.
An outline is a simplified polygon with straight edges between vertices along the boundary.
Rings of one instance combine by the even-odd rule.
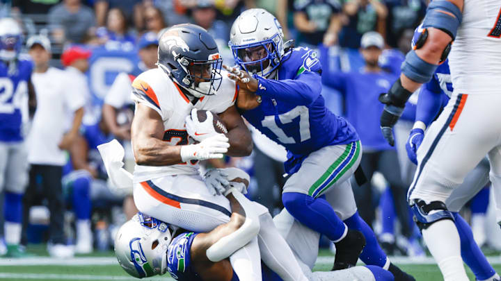
[[360, 140], [351, 124], [324, 105], [317, 53], [287, 49], [278, 20], [263, 9], [246, 10], [236, 19], [229, 45], [238, 66], [225, 68], [239, 85], [239, 110], [287, 149], [285, 171], [292, 175], [282, 196], [287, 211], [334, 241], [333, 269], [355, 265], [360, 255], [396, 280], [414, 280], [390, 263], [358, 215], [349, 178], [360, 163]]

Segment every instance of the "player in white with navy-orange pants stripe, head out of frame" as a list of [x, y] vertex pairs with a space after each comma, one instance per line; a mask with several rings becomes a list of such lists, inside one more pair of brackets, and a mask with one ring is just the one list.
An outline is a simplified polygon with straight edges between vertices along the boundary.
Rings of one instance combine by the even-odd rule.
[[454, 92], [417, 150], [417, 171], [408, 192], [417, 225], [445, 281], [468, 280], [445, 201], [484, 155], [491, 163], [495, 192], [501, 188], [500, 15], [499, 0], [431, 1], [422, 35], [407, 54], [399, 80], [380, 96], [385, 103], [381, 130], [392, 144], [392, 127], [405, 101], [450, 53]]

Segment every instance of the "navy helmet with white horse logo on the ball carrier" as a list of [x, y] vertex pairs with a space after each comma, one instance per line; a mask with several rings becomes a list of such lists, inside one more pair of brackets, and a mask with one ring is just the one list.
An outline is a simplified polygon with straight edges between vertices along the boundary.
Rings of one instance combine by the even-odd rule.
[[221, 86], [223, 59], [214, 38], [200, 26], [168, 28], [160, 37], [158, 56], [158, 67], [193, 96], [216, 94]]

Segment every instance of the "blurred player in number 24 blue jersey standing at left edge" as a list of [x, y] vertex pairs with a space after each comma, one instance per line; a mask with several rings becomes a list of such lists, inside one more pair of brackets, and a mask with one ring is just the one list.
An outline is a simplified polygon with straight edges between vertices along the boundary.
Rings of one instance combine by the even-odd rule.
[[[22, 197], [28, 180], [23, 121], [36, 106], [31, 85], [33, 64], [20, 58], [22, 30], [11, 18], [0, 19], [0, 191], [5, 190], [4, 235], [8, 257], [27, 253], [19, 247]], [[26, 104], [26, 96], [29, 102]]]

